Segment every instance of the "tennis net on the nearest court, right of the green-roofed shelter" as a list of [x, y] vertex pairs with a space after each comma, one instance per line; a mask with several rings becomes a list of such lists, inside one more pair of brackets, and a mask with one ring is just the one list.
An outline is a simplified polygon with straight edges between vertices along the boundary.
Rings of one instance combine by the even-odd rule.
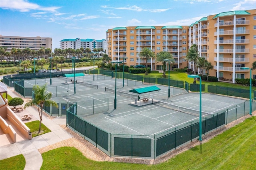
[[[153, 103], [153, 104], [157, 105], [157, 106], [160, 106], [160, 107], [165, 107], [167, 109], [171, 109], [171, 110], [174, 110], [174, 111], [179, 111], [179, 112], [182, 112], [182, 113], [198, 116], [198, 117], [200, 115], [200, 111], [198, 111], [198, 110], [177, 106], [177, 105], [173, 105], [173, 104], [162, 102], [162, 101], [158, 101], [158, 102]], [[213, 115], [213, 113], [207, 113], [207, 112], [201, 112], [201, 113], [202, 113], [202, 116], [204, 116], [204, 115]]]

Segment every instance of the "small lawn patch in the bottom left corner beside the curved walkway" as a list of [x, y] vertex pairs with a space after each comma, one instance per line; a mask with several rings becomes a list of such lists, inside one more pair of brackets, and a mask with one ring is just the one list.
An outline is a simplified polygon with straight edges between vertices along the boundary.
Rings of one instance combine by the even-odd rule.
[[0, 160], [1, 170], [24, 170], [26, 160], [22, 154]]

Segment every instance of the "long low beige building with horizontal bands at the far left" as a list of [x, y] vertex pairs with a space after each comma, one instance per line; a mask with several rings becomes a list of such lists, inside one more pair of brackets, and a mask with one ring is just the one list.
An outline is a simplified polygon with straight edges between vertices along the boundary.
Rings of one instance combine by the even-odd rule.
[[45, 47], [52, 49], [52, 38], [0, 35], [0, 47], [7, 47], [7, 51], [10, 51], [12, 48], [38, 50], [41, 47]]

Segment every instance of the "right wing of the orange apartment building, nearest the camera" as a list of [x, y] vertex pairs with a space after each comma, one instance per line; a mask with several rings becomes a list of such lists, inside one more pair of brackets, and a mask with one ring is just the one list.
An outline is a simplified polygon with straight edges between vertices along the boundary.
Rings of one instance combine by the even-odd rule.
[[[189, 47], [197, 44], [200, 56], [214, 66], [210, 75], [233, 83], [236, 78], [250, 78], [250, 70], [243, 67], [251, 68], [256, 61], [256, 10], [222, 12], [202, 18], [190, 25], [188, 41]], [[252, 75], [256, 79], [255, 71]]]

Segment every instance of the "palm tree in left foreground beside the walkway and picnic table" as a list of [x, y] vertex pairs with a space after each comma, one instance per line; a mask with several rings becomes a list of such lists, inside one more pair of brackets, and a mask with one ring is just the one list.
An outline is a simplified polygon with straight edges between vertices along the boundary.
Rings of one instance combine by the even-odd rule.
[[24, 106], [24, 109], [26, 109], [27, 107], [31, 107], [31, 106], [36, 106], [36, 105], [39, 106], [38, 107], [38, 113], [39, 113], [39, 117], [40, 117], [40, 124], [39, 124], [39, 130], [38, 130], [38, 134], [39, 134], [41, 131], [41, 123], [42, 123], [42, 115], [43, 115], [44, 105], [46, 105], [46, 106], [52, 105], [57, 108], [58, 108], [58, 105], [55, 101], [51, 100], [52, 93], [46, 93], [46, 85], [43, 85], [42, 87], [40, 87], [39, 85], [34, 85], [33, 91], [34, 91], [34, 99], [32, 99], [28, 103], [26, 103]]

